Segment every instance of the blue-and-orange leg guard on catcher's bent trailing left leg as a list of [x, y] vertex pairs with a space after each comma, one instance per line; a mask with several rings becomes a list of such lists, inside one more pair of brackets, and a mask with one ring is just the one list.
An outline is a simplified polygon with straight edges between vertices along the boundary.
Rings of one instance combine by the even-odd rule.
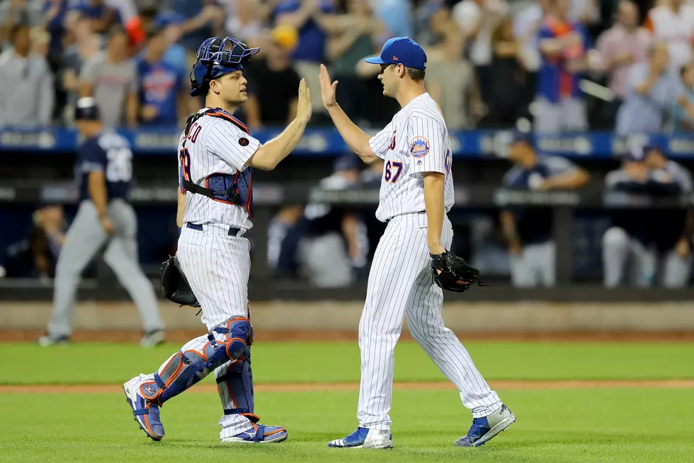
[[[204, 340], [204, 339], [203, 339]], [[199, 345], [200, 343], [198, 343]], [[186, 348], [173, 356], [154, 373], [154, 381], [140, 387], [142, 396], [150, 402], [164, 404], [171, 397], [203, 380], [210, 371], [228, 361], [249, 358], [253, 344], [253, 327], [247, 318], [235, 318], [225, 326], [207, 334], [207, 342], [200, 349]]]

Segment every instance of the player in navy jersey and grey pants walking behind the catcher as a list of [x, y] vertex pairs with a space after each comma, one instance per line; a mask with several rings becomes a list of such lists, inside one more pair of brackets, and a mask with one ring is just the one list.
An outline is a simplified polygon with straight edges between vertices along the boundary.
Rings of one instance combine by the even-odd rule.
[[41, 346], [67, 342], [72, 330], [75, 293], [84, 268], [104, 245], [103, 259], [130, 294], [142, 317], [145, 347], [164, 342], [164, 322], [152, 283], [137, 262], [137, 218], [127, 203], [132, 180], [132, 152], [127, 140], [104, 130], [93, 98], [81, 98], [75, 111], [84, 136], [76, 163], [79, 211], [58, 257], [53, 317]]

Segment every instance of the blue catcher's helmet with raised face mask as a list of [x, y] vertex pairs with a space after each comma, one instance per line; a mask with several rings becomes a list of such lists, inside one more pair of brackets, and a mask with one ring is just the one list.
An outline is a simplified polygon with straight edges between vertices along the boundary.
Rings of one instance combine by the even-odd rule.
[[198, 48], [198, 62], [190, 71], [191, 96], [203, 95], [210, 86], [210, 81], [224, 74], [244, 69], [243, 64], [258, 53], [260, 48], [249, 48], [243, 42], [232, 37], [212, 37]]

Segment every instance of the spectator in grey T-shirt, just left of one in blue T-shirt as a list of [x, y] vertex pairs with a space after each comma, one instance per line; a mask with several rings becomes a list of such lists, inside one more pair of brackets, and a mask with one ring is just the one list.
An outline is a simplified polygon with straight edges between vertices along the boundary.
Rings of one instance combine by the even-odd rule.
[[92, 96], [106, 127], [137, 125], [137, 69], [127, 57], [127, 35], [118, 26], [109, 31], [105, 52], [85, 61], [80, 74], [81, 96]]

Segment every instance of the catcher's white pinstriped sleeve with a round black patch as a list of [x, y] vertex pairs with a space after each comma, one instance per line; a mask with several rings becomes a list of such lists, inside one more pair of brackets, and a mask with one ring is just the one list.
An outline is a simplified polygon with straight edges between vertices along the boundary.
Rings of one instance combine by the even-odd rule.
[[244, 170], [251, 156], [258, 151], [260, 141], [237, 129], [229, 122], [214, 124], [207, 133], [205, 150], [222, 158], [236, 170]]

